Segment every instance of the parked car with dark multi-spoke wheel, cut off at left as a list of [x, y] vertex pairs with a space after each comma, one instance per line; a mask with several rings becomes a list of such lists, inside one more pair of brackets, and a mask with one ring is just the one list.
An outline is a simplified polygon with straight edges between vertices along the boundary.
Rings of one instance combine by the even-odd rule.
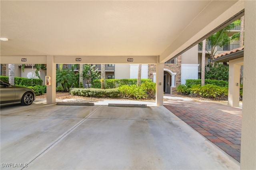
[[12, 86], [1, 81], [0, 84], [0, 105], [18, 104], [27, 106], [32, 104], [36, 98], [34, 90], [31, 88]]

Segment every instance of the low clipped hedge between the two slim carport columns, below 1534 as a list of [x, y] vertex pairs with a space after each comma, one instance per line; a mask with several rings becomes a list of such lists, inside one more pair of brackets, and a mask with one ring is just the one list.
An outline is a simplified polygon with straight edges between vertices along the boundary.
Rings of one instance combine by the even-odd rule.
[[83, 97], [112, 97], [116, 98], [120, 92], [114, 89], [98, 89], [98, 88], [71, 88], [70, 94]]

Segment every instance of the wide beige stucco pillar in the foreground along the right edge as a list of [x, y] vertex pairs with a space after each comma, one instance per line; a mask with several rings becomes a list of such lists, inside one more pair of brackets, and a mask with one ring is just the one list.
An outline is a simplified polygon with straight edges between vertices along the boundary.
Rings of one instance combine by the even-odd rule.
[[256, 1], [246, 0], [241, 170], [256, 169]]

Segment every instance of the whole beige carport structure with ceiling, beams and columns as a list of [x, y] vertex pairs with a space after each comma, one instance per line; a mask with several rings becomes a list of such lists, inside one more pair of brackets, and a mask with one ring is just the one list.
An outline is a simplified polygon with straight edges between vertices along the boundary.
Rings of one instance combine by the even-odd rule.
[[256, 169], [256, 2], [1, 1], [1, 64], [47, 64], [55, 103], [56, 63], [156, 64], [163, 105], [164, 62], [245, 16], [241, 169]]

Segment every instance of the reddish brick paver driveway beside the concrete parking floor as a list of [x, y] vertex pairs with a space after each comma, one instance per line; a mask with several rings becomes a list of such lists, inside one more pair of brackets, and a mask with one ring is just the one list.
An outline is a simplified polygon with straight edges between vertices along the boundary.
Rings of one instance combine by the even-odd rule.
[[242, 109], [165, 95], [164, 106], [240, 162]]

